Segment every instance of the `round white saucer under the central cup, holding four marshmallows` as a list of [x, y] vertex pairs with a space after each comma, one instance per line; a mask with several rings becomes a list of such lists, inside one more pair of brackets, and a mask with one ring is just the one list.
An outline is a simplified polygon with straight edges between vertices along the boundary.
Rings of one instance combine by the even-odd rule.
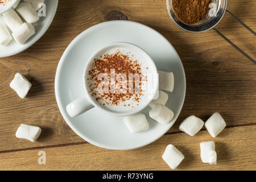
[[[167, 107], [175, 116], [162, 125], [146, 114], [150, 129], [130, 133], [123, 117], [101, 113], [93, 108], [79, 117], [71, 118], [65, 106], [84, 96], [82, 73], [86, 61], [100, 47], [113, 42], [129, 42], [143, 48], [155, 61], [159, 71], [174, 72], [174, 92], [168, 93]], [[112, 150], [130, 150], [146, 146], [162, 137], [176, 121], [185, 98], [185, 73], [174, 47], [161, 34], [143, 24], [127, 20], [104, 22], [90, 27], [77, 36], [60, 59], [55, 77], [55, 96], [63, 118], [73, 131], [95, 146]]]

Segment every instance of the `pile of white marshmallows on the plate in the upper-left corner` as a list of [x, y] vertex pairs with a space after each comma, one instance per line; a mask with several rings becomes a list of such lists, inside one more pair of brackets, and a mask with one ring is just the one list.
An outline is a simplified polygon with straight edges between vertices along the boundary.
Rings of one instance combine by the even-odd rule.
[[[24, 0], [17, 1], [13, 8], [4, 13], [3, 20], [10, 28], [12, 34], [3, 23], [0, 23], [0, 45], [7, 46], [11, 40], [19, 44], [24, 44], [32, 35], [35, 34], [35, 27], [32, 23], [39, 20], [38, 11], [43, 6], [44, 0]], [[23, 23], [20, 16], [26, 21]], [[12, 35], [12, 36], [11, 36]]]

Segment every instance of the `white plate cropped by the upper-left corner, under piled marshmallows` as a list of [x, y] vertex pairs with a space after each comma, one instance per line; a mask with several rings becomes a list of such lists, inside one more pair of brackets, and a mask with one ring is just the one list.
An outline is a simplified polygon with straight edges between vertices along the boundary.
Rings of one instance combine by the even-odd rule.
[[[51, 25], [57, 10], [58, 2], [59, 0], [45, 0], [44, 3], [46, 4], [46, 17], [40, 17], [38, 22], [33, 23], [33, 26], [36, 30], [35, 35], [33, 35], [30, 39], [27, 40], [26, 43], [22, 45], [16, 43], [14, 39], [7, 46], [0, 45], [0, 57], [16, 55], [17, 53], [26, 50], [27, 48], [32, 46], [36, 41], [38, 41]], [[3, 21], [3, 17], [0, 17], [0, 22], [5, 24], [5, 22]]]

